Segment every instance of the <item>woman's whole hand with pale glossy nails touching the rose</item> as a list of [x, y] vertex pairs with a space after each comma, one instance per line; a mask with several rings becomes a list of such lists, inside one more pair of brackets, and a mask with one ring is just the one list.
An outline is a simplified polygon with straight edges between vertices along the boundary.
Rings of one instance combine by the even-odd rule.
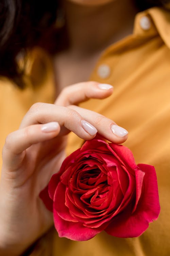
[[74, 104], [106, 98], [112, 87], [84, 82], [65, 88], [55, 104], [35, 103], [19, 130], [6, 138], [0, 182], [0, 252], [19, 255], [53, 224], [52, 213], [39, 198], [65, 158], [67, 134], [90, 140], [99, 135], [115, 143], [127, 132], [115, 123]]

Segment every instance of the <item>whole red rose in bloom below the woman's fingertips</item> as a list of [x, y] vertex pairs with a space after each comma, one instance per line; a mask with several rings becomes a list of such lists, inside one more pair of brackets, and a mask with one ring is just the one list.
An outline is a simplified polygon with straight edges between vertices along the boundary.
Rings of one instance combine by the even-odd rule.
[[60, 237], [84, 241], [105, 230], [140, 236], [160, 212], [153, 166], [136, 165], [123, 145], [90, 140], [68, 156], [40, 197]]

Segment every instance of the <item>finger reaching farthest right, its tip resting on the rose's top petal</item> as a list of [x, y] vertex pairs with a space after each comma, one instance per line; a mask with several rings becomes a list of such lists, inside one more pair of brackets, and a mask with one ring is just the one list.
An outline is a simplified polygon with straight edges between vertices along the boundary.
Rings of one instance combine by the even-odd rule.
[[98, 133], [105, 139], [117, 144], [123, 143], [128, 139], [128, 131], [118, 126], [113, 120], [79, 106], [70, 105], [69, 108], [78, 112], [82, 118], [96, 127]]

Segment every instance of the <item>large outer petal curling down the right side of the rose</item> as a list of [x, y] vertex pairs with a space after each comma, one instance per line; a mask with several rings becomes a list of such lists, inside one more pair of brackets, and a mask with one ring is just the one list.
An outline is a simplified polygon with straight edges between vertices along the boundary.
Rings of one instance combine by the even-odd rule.
[[115, 237], [138, 237], [149, 226], [149, 223], [158, 218], [160, 212], [156, 172], [153, 166], [140, 164], [140, 170], [145, 172], [141, 197], [136, 211], [132, 214], [131, 206], [113, 218], [105, 229]]

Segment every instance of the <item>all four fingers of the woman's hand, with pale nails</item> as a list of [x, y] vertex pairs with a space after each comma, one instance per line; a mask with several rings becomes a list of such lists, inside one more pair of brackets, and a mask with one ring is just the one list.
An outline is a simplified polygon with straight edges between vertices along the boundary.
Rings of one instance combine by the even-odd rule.
[[20, 129], [7, 137], [3, 149], [4, 157], [10, 159], [15, 156], [16, 159], [17, 154], [24, 152], [32, 144], [52, 139], [59, 133], [61, 135], [62, 131], [64, 131], [63, 134], [73, 131], [84, 140], [94, 138], [98, 131], [109, 141], [124, 142], [128, 132], [117, 126], [111, 119], [75, 105], [65, 107], [89, 98], [102, 99], [111, 95], [112, 92], [111, 85], [84, 82], [65, 88], [56, 100], [57, 105], [35, 103], [24, 116]]

